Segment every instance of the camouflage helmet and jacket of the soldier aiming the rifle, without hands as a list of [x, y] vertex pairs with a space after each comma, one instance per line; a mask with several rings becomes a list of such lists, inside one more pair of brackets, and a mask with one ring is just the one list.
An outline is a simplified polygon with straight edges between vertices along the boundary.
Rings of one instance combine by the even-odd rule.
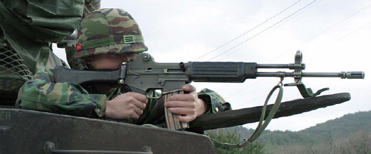
[[[120, 16], [120, 17], [117, 17]], [[92, 26], [93, 25], [93, 26]], [[130, 38], [127, 42], [125, 38]], [[147, 51], [141, 31], [133, 17], [120, 9], [101, 9], [91, 12], [78, 27], [76, 58], [101, 53], [122, 54]], [[89, 68], [86, 67], [86, 68]], [[19, 92], [20, 107], [74, 116], [104, 117], [106, 101], [120, 94], [120, 89], [109, 94], [97, 94], [95, 86], [82, 87], [74, 83], [55, 83], [54, 69], [38, 72], [25, 82]], [[207, 113], [230, 110], [216, 92], [208, 89], [198, 93], [210, 110]], [[138, 125], [162, 125], [165, 122], [162, 101], [149, 99], [138, 120], [124, 120]]]

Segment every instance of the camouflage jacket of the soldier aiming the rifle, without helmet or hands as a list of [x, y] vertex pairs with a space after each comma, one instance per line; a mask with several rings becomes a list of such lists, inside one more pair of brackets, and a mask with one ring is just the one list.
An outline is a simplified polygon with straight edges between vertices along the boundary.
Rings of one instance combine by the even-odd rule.
[[[31, 81], [25, 82], [19, 91], [21, 103], [18, 106], [29, 110], [104, 118], [106, 101], [117, 97], [120, 89], [108, 95], [94, 92], [93, 88], [82, 88], [73, 83], [55, 83], [54, 69], [50, 69], [37, 73]], [[201, 90], [199, 97], [210, 104], [211, 109], [206, 114], [230, 110], [229, 103], [225, 103], [223, 98], [212, 90]], [[157, 114], [164, 112], [163, 110], [164, 107], [160, 107], [156, 99], [150, 99], [144, 114], [138, 120], [128, 119], [123, 122], [164, 126], [164, 114]]]

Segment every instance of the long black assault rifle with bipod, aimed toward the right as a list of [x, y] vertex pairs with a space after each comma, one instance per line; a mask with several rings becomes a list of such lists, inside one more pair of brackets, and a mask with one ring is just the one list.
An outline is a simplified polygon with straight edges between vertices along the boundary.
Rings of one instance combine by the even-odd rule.
[[[288, 68], [293, 70], [293, 72], [259, 72], [258, 69], [260, 68]], [[181, 87], [184, 84], [189, 84], [191, 81], [242, 83], [245, 79], [256, 79], [256, 77], [280, 77], [281, 79], [293, 77], [295, 83], [285, 84], [285, 86], [297, 86], [302, 96], [308, 98], [315, 97], [324, 90], [328, 90], [328, 88], [313, 93], [311, 88], [304, 86], [301, 81], [302, 77], [364, 78], [364, 73], [360, 71], [303, 73], [302, 70], [304, 69], [305, 64], [302, 64], [302, 53], [300, 51], [297, 51], [295, 54], [294, 64], [256, 64], [254, 62], [157, 63], [148, 53], [139, 53], [136, 60], [122, 63], [121, 68], [118, 70], [72, 70], [64, 66], [56, 66], [54, 74], [56, 82], [74, 82], [82, 86], [92, 84], [119, 85], [128, 91], [146, 94], [148, 98], [152, 99], [159, 98], [150, 95], [154, 90], [161, 91], [161, 97], [167, 98], [172, 94], [181, 93]], [[315, 108], [312, 110], [315, 110]], [[294, 114], [297, 113], [299, 112]], [[168, 128], [183, 129], [189, 127], [188, 124], [179, 123], [177, 116], [172, 115], [170, 112], [166, 111], [165, 114]]]

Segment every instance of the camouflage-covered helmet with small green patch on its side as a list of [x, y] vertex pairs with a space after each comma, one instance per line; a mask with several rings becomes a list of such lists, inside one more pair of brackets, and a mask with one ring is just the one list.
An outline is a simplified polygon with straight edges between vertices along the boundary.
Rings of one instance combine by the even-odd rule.
[[148, 50], [134, 18], [128, 12], [115, 8], [95, 10], [82, 19], [77, 42], [75, 58]]

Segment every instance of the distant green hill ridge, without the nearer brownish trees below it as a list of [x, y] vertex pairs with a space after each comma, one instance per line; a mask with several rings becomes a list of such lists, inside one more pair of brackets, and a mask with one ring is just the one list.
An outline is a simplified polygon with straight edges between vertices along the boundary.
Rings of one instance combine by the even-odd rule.
[[359, 131], [371, 132], [371, 111], [346, 114], [302, 131], [266, 130], [259, 140], [265, 144], [273, 145], [307, 144], [320, 140], [345, 140], [351, 133]]

